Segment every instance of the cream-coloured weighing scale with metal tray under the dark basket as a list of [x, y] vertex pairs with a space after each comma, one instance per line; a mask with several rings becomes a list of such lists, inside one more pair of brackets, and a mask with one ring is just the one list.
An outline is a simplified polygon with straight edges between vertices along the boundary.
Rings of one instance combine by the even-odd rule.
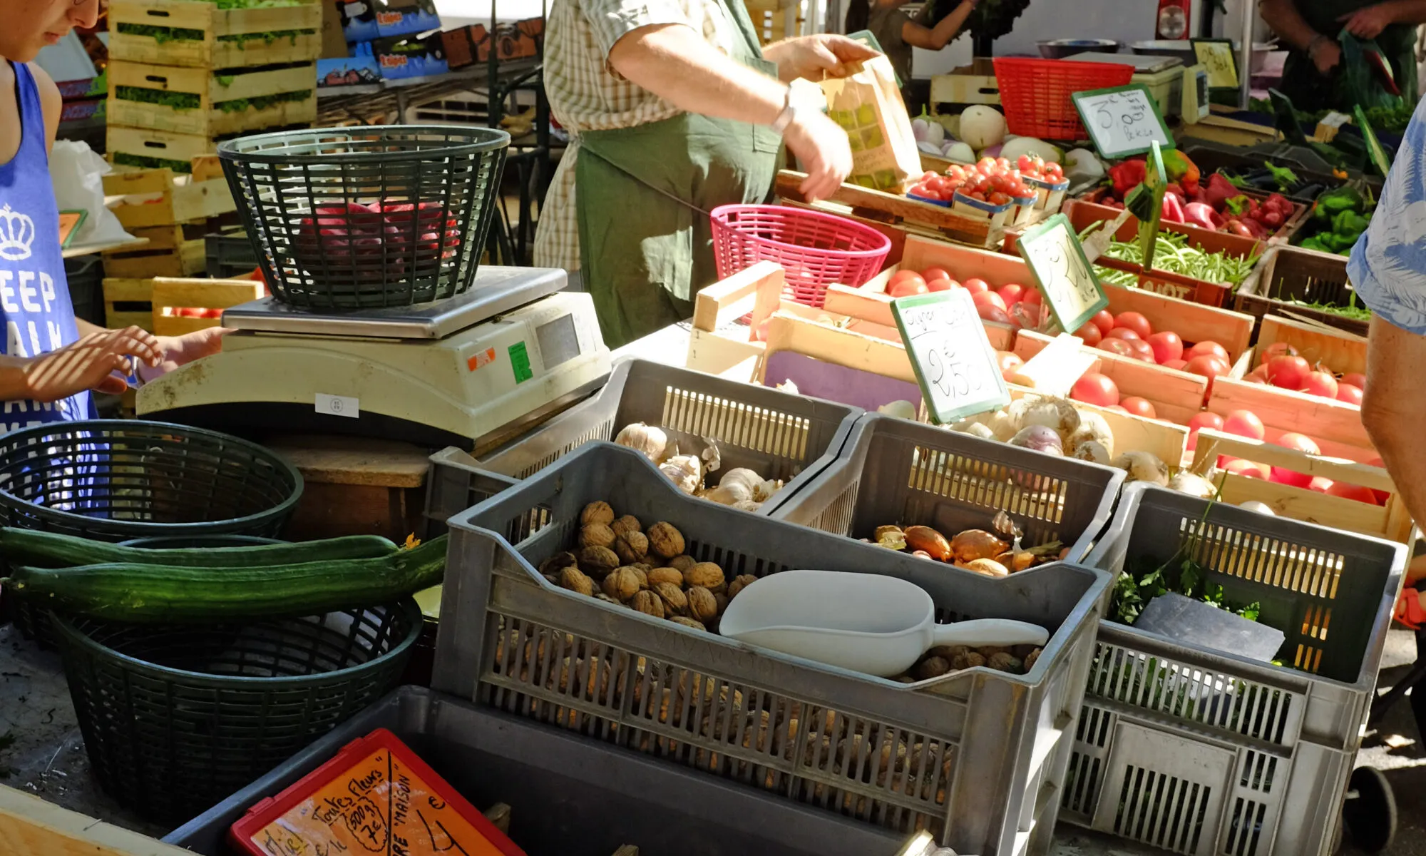
[[482, 267], [465, 294], [412, 307], [232, 307], [222, 352], [141, 387], [137, 412], [475, 448], [609, 374], [593, 300], [566, 282], [559, 270]]

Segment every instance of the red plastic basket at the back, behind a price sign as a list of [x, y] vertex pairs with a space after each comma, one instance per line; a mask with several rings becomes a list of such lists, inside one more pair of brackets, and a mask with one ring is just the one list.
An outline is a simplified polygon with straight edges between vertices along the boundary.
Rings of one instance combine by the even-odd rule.
[[1084, 140], [1084, 123], [1071, 93], [1128, 86], [1132, 66], [997, 57], [995, 83], [1005, 130], [1041, 140]]

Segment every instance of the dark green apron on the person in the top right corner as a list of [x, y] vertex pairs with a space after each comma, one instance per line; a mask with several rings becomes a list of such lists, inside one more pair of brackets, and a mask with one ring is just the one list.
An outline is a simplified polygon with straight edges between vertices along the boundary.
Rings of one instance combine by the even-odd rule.
[[[1375, 6], [1380, 0], [1296, 0], [1298, 13], [1308, 24], [1328, 39], [1336, 40], [1342, 31], [1343, 14]], [[1376, 44], [1392, 63], [1396, 86], [1407, 104], [1416, 103], [1416, 27], [1392, 24], [1376, 37]], [[1343, 58], [1343, 61], [1346, 61]], [[1303, 113], [1319, 110], [1340, 110], [1350, 113], [1353, 98], [1339, 91], [1342, 64], [1323, 76], [1305, 50], [1293, 50], [1282, 68], [1282, 93], [1292, 98], [1292, 106]]]

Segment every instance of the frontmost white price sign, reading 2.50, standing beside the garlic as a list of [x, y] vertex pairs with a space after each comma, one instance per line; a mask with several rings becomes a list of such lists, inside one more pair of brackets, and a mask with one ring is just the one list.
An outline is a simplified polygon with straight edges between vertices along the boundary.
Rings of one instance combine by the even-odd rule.
[[970, 291], [903, 297], [891, 301], [891, 315], [935, 424], [1010, 404]]

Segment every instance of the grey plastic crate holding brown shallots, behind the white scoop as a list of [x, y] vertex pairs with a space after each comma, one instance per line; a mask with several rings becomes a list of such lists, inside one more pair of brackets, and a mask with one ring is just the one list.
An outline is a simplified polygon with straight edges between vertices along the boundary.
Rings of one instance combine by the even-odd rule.
[[1024, 544], [1062, 541], [1084, 559], [1124, 471], [878, 414], [857, 421], [841, 457], [777, 509], [777, 518], [870, 538], [877, 526], [985, 529], [1005, 511]]

